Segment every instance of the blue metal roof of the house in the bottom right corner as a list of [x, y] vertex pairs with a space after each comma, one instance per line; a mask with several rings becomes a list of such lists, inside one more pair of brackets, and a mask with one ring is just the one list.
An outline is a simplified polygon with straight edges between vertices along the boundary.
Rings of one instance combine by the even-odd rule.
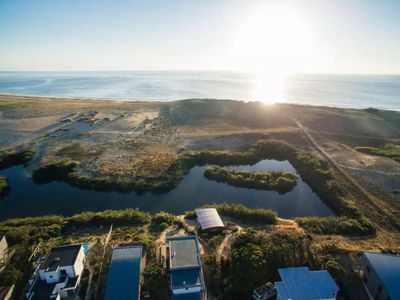
[[392, 299], [400, 299], [400, 256], [379, 252], [364, 252]]

